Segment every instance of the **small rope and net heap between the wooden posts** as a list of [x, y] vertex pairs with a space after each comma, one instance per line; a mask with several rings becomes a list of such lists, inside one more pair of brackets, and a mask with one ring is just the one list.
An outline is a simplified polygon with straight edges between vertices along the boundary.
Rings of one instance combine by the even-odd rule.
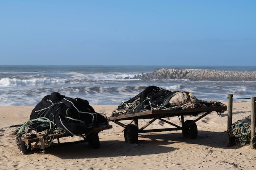
[[251, 115], [249, 115], [231, 124], [228, 128], [228, 133], [238, 146], [244, 146], [250, 139], [252, 139], [252, 143], [255, 144], [255, 136], [251, 138], [251, 127]]

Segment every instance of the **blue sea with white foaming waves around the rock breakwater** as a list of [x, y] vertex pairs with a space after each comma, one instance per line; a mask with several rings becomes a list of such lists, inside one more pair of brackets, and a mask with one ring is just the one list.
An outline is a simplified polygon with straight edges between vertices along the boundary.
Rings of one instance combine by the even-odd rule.
[[[158, 68], [253, 71], [256, 66], [23, 66], [0, 65], [0, 106], [35, 106], [45, 95], [59, 92], [86, 99], [90, 105], [119, 105], [147, 86], [187, 91], [198, 99], [227, 101], [256, 96], [256, 82], [132, 79]], [[129, 78], [129, 79], [128, 79]]]

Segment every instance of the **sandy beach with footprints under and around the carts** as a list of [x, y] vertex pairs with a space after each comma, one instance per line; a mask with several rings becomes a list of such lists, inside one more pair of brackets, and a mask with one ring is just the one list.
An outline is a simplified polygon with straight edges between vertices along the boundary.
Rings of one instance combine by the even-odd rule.
[[[227, 104], [227, 103], [225, 103]], [[110, 116], [117, 106], [92, 106]], [[110, 122], [112, 129], [99, 133], [100, 148], [88, 143], [34, 150], [23, 155], [9, 134], [29, 120], [34, 106], [0, 106], [1, 170], [252, 170], [256, 168], [256, 150], [250, 145], [227, 147], [227, 111], [221, 116], [212, 112], [197, 122], [197, 139], [184, 139], [181, 131], [153, 132], [139, 135], [138, 144], [127, 144], [122, 127]], [[251, 102], [233, 103], [233, 122], [251, 114]], [[195, 117], [185, 117], [195, 119]], [[149, 119], [139, 121], [146, 124]], [[170, 121], [179, 123], [178, 117]], [[148, 128], [170, 125], [155, 121]], [[61, 138], [61, 142], [79, 137]]]

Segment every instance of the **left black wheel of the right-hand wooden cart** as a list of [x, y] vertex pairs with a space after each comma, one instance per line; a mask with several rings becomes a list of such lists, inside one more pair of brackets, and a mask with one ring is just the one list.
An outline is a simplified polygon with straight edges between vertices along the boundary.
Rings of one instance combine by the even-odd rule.
[[129, 144], [136, 144], [138, 142], [138, 129], [135, 125], [128, 124], [125, 126], [124, 139]]

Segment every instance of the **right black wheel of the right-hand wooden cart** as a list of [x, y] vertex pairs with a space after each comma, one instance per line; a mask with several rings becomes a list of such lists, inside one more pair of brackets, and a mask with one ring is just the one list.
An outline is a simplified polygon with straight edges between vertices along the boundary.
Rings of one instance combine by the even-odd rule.
[[[182, 127], [182, 135], [183, 137], [189, 138], [189, 139], [196, 139], [198, 136], [198, 127], [196, 126], [195, 122], [193, 120], [186, 120]], [[191, 124], [192, 123], [192, 124]], [[191, 124], [189, 127], [186, 127], [188, 124]], [[186, 127], [186, 128], [184, 128]]]

